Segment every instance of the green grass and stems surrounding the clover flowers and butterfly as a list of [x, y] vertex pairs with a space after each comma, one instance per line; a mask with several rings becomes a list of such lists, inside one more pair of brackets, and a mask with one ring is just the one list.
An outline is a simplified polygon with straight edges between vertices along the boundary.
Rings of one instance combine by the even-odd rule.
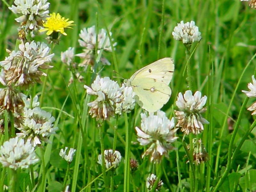
[[[15, 85], [15, 90], [31, 99], [37, 95], [38, 107], [51, 113], [55, 118], [52, 128], [58, 129], [45, 136], [48, 141], [41, 140], [41, 144], [34, 146], [38, 160], [27, 168], [13, 170], [4, 166], [0, 148], [0, 192], [256, 190], [256, 118], [253, 111], [247, 110], [256, 101], [256, 91], [251, 98], [242, 92], [250, 91], [247, 85], [256, 74], [256, 9], [249, 6], [250, 1], [48, 0], [49, 15], [60, 13], [74, 21], [71, 28], [64, 28], [67, 35], [53, 32], [49, 37], [46, 32], [32, 34], [30, 31], [20, 39], [21, 23], [14, 19], [21, 14], [8, 9], [15, 1], [0, 2], [0, 61], [9, 56], [6, 49], [17, 51], [21, 41], [44, 42], [51, 48], [49, 54], [54, 56], [46, 64], [53, 67], [40, 69], [47, 76], [37, 74], [41, 82]], [[184, 23], [195, 21], [201, 32], [200, 41], [184, 46], [182, 41], [173, 38], [172, 32], [182, 20]], [[103, 28], [106, 37], [111, 36], [112, 51], [94, 48], [86, 66], [78, 65], [84, 61], [79, 56], [73, 57], [73, 64], [64, 63], [61, 52], [69, 47], [74, 47], [75, 54], [84, 52], [78, 42], [79, 33], [92, 26], [96, 34]], [[54, 39], [54, 34], [58, 39]], [[108, 44], [106, 38], [101, 43]], [[96, 76], [100, 76], [109, 77], [121, 87], [124, 79], [129, 79], [137, 70], [166, 57], [172, 58], [175, 70], [169, 84], [171, 97], [161, 110], [168, 119], [174, 117], [173, 129], [179, 129], [175, 133], [177, 139], [169, 144], [172, 149], [160, 155], [160, 160], [151, 161], [150, 155], [142, 158], [150, 144], [140, 145], [135, 130], [135, 127], [141, 128], [140, 114], [147, 111], [136, 103], [129, 113], [109, 112], [106, 119], [93, 117], [88, 103], [97, 95], [88, 94], [84, 85], [91, 87]], [[103, 65], [101, 58], [107, 59], [110, 65]], [[1, 63], [0, 68], [4, 68]], [[0, 82], [2, 89], [9, 86]], [[254, 88], [256, 90], [256, 84]], [[204, 130], [199, 134], [186, 135], [176, 127], [177, 96], [187, 90], [207, 96], [202, 117], [209, 124], [203, 124]], [[0, 94], [0, 104], [4, 103]], [[20, 121], [24, 113], [21, 110]], [[0, 106], [0, 117], [2, 146], [21, 131], [12, 110]], [[208, 154], [199, 164], [189, 150], [194, 138], [202, 140]], [[65, 147], [76, 149], [71, 162], [59, 155]], [[97, 163], [98, 156], [107, 149], [120, 152], [122, 158], [116, 167], [111, 164], [106, 168], [103, 163]], [[137, 161], [132, 170], [131, 158]], [[156, 182], [148, 189], [146, 183], [151, 174], [156, 175]], [[160, 180], [161, 187], [158, 186]]]

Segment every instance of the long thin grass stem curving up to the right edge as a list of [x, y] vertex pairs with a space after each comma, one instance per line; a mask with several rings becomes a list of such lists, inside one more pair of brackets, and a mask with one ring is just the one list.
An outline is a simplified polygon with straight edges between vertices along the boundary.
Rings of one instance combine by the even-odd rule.
[[[221, 132], [220, 132], [220, 144], [219, 144], [219, 146], [218, 146], [218, 151], [217, 151], [217, 156], [216, 156], [216, 163], [215, 163], [215, 174], [216, 174], [216, 175], [217, 175], [217, 171], [218, 171], [218, 168], [219, 168], [220, 151], [221, 151], [221, 145], [222, 145], [222, 140], [223, 140], [223, 134], [224, 134], [224, 130], [225, 130], [225, 127], [226, 127], [226, 122], [227, 122], [227, 119], [228, 119], [228, 113], [229, 113], [229, 111], [230, 111], [231, 105], [232, 105], [233, 100], [234, 100], [235, 95], [236, 95], [236, 91], [237, 91], [237, 89], [238, 89], [238, 86], [239, 86], [240, 83], [241, 83], [241, 80], [242, 80], [242, 78], [243, 78], [243, 76], [244, 76], [244, 73], [245, 73], [246, 69], [249, 67], [249, 65], [251, 64], [252, 60], [253, 60], [255, 57], [256, 57], [256, 53], [252, 56], [252, 58], [249, 60], [249, 62], [248, 62], [247, 65], [245, 66], [245, 68], [244, 68], [242, 74], [241, 74], [240, 77], [239, 77], [239, 80], [238, 80], [238, 82], [237, 82], [237, 84], [236, 84], [236, 88], [235, 88], [235, 90], [234, 90], [234, 92], [233, 92], [232, 98], [231, 98], [230, 103], [229, 103], [229, 105], [228, 105], [228, 109], [227, 109], [227, 112], [226, 112], [226, 115], [225, 115], [225, 118], [224, 118], [224, 121], [223, 121], [223, 124], [222, 124], [222, 127], [221, 127]], [[223, 176], [224, 176], [224, 175], [222, 175], [222, 177], [223, 177]], [[217, 186], [216, 186], [216, 187], [217, 187]], [[216, 187], [215, 187], [215, 188], [216, 188]], [[219, 186], [219, 187], [220, 187], [220, 186]]]

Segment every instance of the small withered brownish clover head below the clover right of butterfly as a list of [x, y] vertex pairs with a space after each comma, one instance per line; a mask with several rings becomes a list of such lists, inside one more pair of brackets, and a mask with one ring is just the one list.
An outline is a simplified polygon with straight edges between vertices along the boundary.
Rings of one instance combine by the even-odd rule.
[[[188, 145], [189, 149], [189, 145]], [[193, 157], [196, 164], [201, 164], [208, 160], [208, 153], [201, 139], [193, 139]]]

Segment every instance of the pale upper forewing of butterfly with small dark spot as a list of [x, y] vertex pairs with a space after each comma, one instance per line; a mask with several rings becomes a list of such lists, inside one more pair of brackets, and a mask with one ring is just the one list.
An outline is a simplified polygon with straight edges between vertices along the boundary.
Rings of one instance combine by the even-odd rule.
[[174, 63], [172, 58], [163, 58], [136, 71], [131, 76], [130, 81], [148, 77], [168, 85], [171, 82], [173, 71]]

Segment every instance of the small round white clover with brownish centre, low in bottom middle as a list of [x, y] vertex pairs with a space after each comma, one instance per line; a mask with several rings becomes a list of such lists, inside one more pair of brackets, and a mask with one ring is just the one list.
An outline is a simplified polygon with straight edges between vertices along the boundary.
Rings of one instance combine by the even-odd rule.
[[[121, 162], [122, 156], [119, 151], [113, 153], [112, 149], [104, 150], [104, 159], [106, 168], [110, 168], [114, 165], [114, 168], [118, 167]], [[98, 156], [98, 164], [102, 164], [101, 154]]]

